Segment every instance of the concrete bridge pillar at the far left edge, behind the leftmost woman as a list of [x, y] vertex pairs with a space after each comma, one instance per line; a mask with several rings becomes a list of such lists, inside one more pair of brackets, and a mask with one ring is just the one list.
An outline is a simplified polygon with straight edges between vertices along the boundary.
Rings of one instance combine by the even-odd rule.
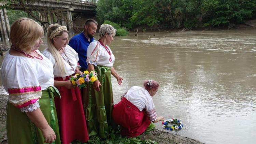
[[10, 38], [10, 24], [7, 16], [6, 9], [0, 9], [0, 31], [1, 31], [1, 40], [8, 41]]

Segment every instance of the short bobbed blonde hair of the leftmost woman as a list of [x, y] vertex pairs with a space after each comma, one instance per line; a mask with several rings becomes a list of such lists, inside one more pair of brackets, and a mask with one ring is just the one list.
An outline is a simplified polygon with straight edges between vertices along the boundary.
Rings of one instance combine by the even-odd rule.
[[11, 26], [11, 43], [25, 52], [30, 52], [44, 35], [43, 28], [34, 20], [27, 17], [18, 18]]

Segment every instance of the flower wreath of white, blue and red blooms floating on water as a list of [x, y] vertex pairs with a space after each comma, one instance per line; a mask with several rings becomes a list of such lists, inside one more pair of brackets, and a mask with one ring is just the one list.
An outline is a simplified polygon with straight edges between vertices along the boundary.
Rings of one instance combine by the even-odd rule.
[[[172, 125], [173, 124], [173, 125]], [[181, 123], [181, 120], [177, 120], [176, 118], [171, 118], [171, 119], [167, 119], [167, 120], [164, 120], [162, 121], [162, 127], [164, 129], [167, 129], [167, 130], [178, 130], [178, 129], [182, 129], [183, 127], [183, 124]]]

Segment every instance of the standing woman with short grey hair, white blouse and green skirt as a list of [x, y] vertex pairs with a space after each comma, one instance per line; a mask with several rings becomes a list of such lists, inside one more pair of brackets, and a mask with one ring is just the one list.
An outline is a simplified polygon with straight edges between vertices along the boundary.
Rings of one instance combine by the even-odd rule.
[[88, 71], [96, 71], [98, 74], [98, 80], [84, 89], [83, 103], [90, 136], [98, 134], [101, 138], [107, 138], [110, 126], [112, 128], [117, 126], [111, 116], [114, 106], [111, 74], [119, 85], [122, 84], [123, 78], [113, 67], [115, 56], [107, 45], [114, 40], [115, 31], [111, 25], [101, 25], [100, 39], [93, 41], [87, 49]]

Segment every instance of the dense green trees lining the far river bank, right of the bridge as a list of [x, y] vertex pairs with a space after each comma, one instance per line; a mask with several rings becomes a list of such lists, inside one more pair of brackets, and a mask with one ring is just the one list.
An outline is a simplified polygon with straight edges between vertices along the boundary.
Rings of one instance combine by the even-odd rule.
[[99, 0], [97, 17], [125, 28], [233, 27], [256, 18], [256, 0]]

